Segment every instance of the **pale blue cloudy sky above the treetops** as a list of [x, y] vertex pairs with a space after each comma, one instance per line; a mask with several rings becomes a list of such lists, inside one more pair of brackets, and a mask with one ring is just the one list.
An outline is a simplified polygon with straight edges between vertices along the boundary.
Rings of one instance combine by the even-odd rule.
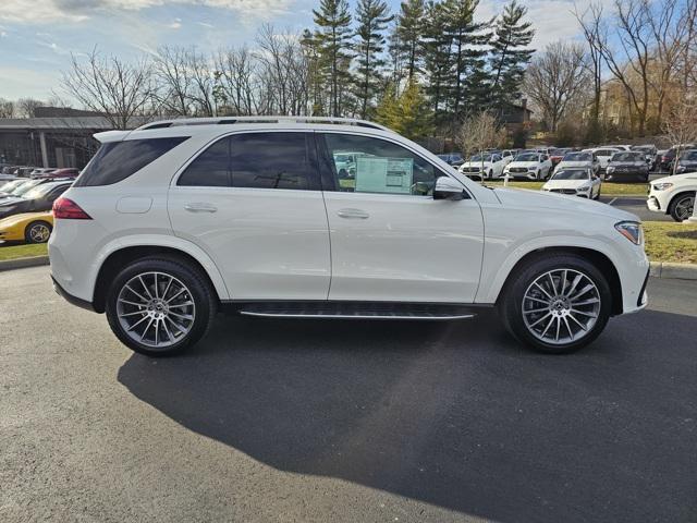
[[[350, 0], [352, 10], [355, 0]], [[399, 0], [388, 0], [392, 11]], [[488, 19], [506, 0], [480, 0]], [[541, 49], [578, 37], [573, 0], [519, 0], [528, 8]], [[585, 1], [580, 0], [580, 4]], [[121, 58], [156, 52], [161, 45], [196, 46], [200, 51], [247, 42], [271, 23], [280, 31], [311, 26], [319, 0], [2, 0], [0, 1], [0, 98], [47, 99], [60, 93], [61, 70], [71, 53], [95, 46]]]

